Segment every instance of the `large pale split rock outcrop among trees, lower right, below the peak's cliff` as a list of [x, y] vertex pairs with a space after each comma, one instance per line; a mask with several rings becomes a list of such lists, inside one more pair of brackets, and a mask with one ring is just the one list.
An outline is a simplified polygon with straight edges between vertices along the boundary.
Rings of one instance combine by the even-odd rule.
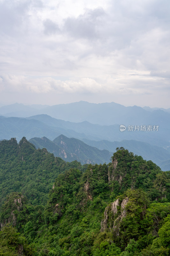
[[[126, 217], [125, 206], [127, 205], [128, 200], [128, 197], [124, 198], [122, 201], [117, 199], [115, 202], [106, 207], [104, 219], [101, 221], [101, 232], [104, 232], [107, 228], [109, 228], [110, 231], [113, 229], [117, 236], [119, 235], [119, 225], [122, 218]], [[118, 217], [116, 216], [117, 214], [119, 214]]]

